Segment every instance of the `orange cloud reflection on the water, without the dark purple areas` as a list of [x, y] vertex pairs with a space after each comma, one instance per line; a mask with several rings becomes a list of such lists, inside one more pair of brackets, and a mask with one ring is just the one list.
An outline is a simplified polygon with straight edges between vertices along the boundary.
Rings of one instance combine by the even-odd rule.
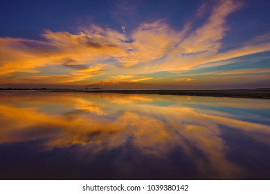
[[[267, 110], [264, 100], [8, 92], [0, 96], [0, 102], [0, 143], [43, 140], [44, 151], [80, 145], [78, 155], [87, 153], [89, 162], [130, 141], [132, 148], [127, 151], [138, 151], [144, 157], [170, 160], [172, 152], [180, 149], [181, 157], [194, 161], [192, 168], [202, 179], [242, 179], [247, 173], [228, 157], [237, 148], [223, 138], [226, 127], [267, 148], [270, 142], [269, 125], [242, 121], [241, 115], [225, 109], [258, 109], [262, 102], [265, 107], [260, 109]], [[269, 121], [264, 114], [260, 119]], [[131, 164], [125, 165], [129, 165], [127, 171], [132, 169]], [[123, 171], [124, 167], [117, 168]]]

